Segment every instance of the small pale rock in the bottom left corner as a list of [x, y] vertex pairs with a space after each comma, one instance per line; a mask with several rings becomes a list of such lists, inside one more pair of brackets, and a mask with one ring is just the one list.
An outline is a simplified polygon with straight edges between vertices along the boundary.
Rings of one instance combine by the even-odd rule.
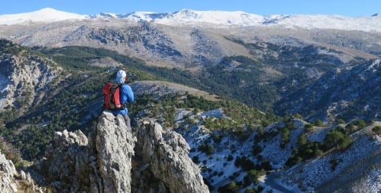
[[17, 192], [16, 174], [15, 165], [0, 151], [0, 192]]

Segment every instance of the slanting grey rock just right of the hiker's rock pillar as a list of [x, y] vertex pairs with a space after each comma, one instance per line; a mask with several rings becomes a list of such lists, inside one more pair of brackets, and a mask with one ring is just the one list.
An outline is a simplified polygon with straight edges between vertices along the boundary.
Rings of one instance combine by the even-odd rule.
[[[157, 123], [145, 122], [139, 131], [136, 156], [140, 157], [143, 169], [147, 167], [146, 174], [168, 187], [168, 191], [163, 191], [161, 186], [161, 192], [209, 192], [200, 170], [188, 156], [189, 149], [180, 134], [163, 131]], [[148, 183], [143, 183], [143, 187], [154, 189]]]

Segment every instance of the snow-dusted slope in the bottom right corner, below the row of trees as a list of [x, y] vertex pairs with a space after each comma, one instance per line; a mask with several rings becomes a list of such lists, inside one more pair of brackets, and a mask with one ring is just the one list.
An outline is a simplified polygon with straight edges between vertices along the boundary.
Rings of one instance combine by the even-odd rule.
[[378, 192], [380, 145], [379, 136], [362, 135], [346, 151], [333, 152], [278, 173], [277, 181], [290, 187], [298, 183], [303, 192]]

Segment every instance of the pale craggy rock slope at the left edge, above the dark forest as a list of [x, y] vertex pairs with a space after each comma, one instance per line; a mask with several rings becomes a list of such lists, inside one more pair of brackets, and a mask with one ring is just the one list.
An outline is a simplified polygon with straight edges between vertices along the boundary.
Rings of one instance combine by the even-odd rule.
[[46, 87], [60, 82], [62, 68], [53, 61], [4, 39], [0, 40], [0, 109], [22, 114], [42, 102]]

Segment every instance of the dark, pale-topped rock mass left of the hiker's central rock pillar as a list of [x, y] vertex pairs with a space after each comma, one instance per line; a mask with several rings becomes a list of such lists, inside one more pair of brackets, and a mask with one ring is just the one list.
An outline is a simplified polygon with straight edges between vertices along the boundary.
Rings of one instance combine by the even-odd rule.
[[100, 192], [102, 180], [94, 151], [81, 131], [56, 132], [40, 173], [54, 192]]

